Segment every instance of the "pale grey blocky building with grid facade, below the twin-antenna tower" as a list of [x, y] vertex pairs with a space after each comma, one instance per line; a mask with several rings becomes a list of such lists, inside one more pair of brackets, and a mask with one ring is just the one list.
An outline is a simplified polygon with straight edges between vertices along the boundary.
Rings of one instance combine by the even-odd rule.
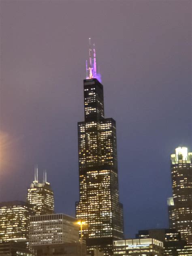
[[79, 241], [77, 220], [65, 214], [38, 215], [30, 218], [30, 250], [36, 245]]

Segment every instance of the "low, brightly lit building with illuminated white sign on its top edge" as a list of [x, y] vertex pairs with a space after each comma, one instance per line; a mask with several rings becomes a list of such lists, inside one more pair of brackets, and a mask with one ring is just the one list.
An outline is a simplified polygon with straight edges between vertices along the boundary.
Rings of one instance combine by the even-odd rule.
[[114, 241], [113, 254], [121, 256], [163, 256], [163, 243], [152, 238]]

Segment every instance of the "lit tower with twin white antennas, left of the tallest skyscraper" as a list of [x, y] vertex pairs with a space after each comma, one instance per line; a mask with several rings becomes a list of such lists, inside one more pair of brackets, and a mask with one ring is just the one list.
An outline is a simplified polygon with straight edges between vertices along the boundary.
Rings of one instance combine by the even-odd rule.
[[43, 173], [43, 182], [38, 181], [38, 169], [35, 168], [35, 179], [28, 188], [27, 202], [32, 204], [35, 215], [54, 213], [54, 197], [50, 183], [47, 182], [47, 173]]

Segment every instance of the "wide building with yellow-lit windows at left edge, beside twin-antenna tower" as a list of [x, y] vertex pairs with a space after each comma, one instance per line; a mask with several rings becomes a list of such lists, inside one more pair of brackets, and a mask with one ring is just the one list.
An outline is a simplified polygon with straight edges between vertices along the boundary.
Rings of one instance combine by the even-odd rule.
[[0, 203], [0, 242], [28, 241], [32, 207], [23, 201]]

